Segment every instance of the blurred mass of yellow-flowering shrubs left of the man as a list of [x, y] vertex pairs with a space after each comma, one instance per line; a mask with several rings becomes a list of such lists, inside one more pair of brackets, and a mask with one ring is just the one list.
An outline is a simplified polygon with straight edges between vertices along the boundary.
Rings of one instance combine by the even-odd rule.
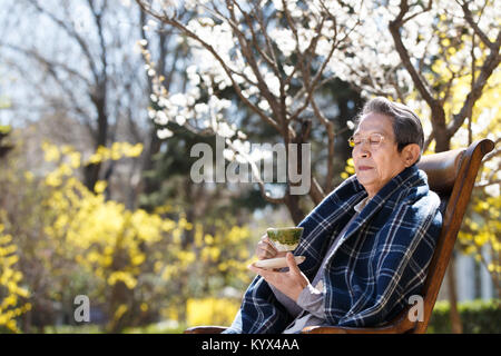
[[[1, 162], [0, 286], [9, 287], [0, 289], [0, 310], [10, 307], [10, 314], [0, 313], [0, 320], [12, 332], [76, 324], [79, 294], [90, 298], [91, 323], [106, 323], [106, 332], [159, 319], [184, 323], [188, 298], [249, 283], [250, 233], [230, 217], [193, 224], [169, 204], [131, 211], [106, 200], [105, 181], [89, 191], [78, 179], [89, 159], [135, 157], [139, 146], [116, 144], [87, 159], [70, 146], [43, 142], [42, 149], [45, 170], [23, 170], [17, 155]], [[20, 271], [13, 269], [18, 258]], [[17, 287], [23, 276], [23, 288]]]

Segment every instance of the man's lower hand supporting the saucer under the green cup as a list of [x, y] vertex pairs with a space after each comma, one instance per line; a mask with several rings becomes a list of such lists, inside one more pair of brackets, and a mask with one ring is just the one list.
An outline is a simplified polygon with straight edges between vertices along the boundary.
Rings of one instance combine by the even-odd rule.
[[297, 267], [293, 254], [287, 253], [285, 258], [287, 260], [288, 271], [267, 270], [254, 265], [248, 266], [248, 269], [262, 276], [267, 283], [294, 301], [297, 301], [301, 291], [310, 284], [310, 280], [299, 270], [299, 267]]

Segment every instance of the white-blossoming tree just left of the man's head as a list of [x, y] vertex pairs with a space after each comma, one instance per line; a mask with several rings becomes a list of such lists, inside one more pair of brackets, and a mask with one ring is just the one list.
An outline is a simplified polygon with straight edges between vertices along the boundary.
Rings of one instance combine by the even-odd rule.
[[[354, 12], [354, 7], [322, 1], [245, 4], [186, 1], [178, 3], [179, 8], [191, 9], [199, 16], [181, 21], [174, 4], [138, 3], [163, 23], [177, 29], [186, 38], [194, 57], [184, 92], [168, 92], [163, 88], [161, 78], [151, 71], [154, 100], [159, 107], [151, 113], [154, 120], [159, 125], [175, 121], [200, 134], [222, 136], [236, 152], [232, 157], [250, 165], [263, 156], [247, 155], [245, 128], [238, 122], [234, 102], [222, 95], [224, 89], [232, 88], [238, 100], [272, 127], [285, 145], [308, 142], [312, 125], [323, 127], [328, 146], [325, 184], [322, 187], [312, 176], [308, 191], [312, 200], [318, 204], [325, 191], [332, 189], [335, 132], [333, 122], [317, 102], [316, 92], [334, 78], [327, 65], [336, 50], [347, 46], [350, 33], [360, 23], [355, 20], [346, 24], [338, 20]], [[204, 97], [208, 99], [204, 100]], [[164, 128], [158, 134], [168, 137], [171, 132]], [[297, 155], [301, 161], [301, 152]], [[303, 218], [298, 197], [289, 189], [283, 197], [273, 197], [261, 177], [255, 178], [265, 199], [286, 204], [295, 221]], [[291, 186], [289, 180], [287, 186]]]

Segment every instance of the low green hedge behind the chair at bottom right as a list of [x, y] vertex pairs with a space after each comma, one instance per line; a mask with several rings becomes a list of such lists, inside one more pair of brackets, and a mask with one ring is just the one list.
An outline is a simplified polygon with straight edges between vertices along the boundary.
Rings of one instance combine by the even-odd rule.
[[[501, 334], [501, 300], [459, 303], [464, 334]], [[450, 334], [451, 318], [448, 300], [436, 301], [428, 326], [430, 334]]]

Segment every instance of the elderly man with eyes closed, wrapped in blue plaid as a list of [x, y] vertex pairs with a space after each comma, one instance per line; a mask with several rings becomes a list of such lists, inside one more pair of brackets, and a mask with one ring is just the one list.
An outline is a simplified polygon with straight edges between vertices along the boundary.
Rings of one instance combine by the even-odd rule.
[[[367, 327], [391, 320], [419, 295], [442, 226], [440, 199], [415, 164], [419, 117], [384, 98], [369, 101], [350, 138], [355, 175], [298, 225], [288, 268], [257, 276], [225, 333], [299, 333], [311, 325]], [[279, 257], [263, 237], [259, 259]]]

